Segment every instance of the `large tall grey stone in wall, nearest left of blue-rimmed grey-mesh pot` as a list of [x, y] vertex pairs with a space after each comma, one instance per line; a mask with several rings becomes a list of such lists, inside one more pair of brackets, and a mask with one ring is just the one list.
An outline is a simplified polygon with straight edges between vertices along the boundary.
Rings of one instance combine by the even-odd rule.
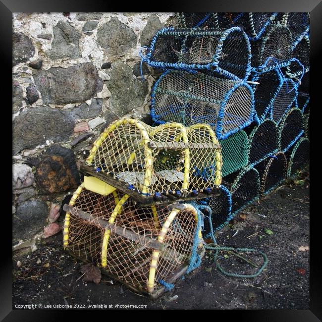
[[148, 82], [135, 79], [132, 68], [122, 62], [113, 64], [106, 84], [112, 95], [110, 109], [119, 117], [142, 106], [148, 94]]

